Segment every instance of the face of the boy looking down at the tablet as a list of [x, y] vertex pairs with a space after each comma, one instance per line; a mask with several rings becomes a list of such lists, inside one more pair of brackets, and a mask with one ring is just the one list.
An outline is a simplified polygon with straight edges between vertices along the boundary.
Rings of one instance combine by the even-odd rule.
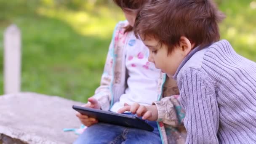
[[168, 54], [167, 46], [160, 45], [154, 37], [142, 37], [143, 43], [149, 48], [148, 60], [155, 64], [155, 67], [172, 77], [177, 71], [183, 59], [190, 52], [187, 48], [177, 46]]

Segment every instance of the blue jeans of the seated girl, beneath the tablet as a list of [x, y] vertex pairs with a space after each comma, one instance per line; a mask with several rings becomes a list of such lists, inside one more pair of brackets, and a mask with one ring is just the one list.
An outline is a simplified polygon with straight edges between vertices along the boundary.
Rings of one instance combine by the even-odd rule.
[[146, 122], [154, 131], [97, 123], [86, 128], [74, 144], [162, 144], [157, 122]]

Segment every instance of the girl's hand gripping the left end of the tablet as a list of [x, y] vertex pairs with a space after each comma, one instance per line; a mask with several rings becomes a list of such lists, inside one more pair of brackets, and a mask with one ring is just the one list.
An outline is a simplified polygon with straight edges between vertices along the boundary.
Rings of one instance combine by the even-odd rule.
[[[83, 105], [82, 107], [90, 107], [93, 109], [100, 109], [99, 102], [93, 97], [89, 98], [88, 103]], [[82, 115], [80, 112], [77, 112], [76, 116], [79, 118], [81, 123], [85, 126], [91, 126], [95, 123], [98, 123], [98, 120], [96, 120], [95, 118], [88, 117], [87, 115]]]

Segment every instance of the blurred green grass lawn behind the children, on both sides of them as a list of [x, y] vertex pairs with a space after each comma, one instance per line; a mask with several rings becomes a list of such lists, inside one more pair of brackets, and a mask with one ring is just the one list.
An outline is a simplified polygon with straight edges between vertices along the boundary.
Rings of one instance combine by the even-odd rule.
[[[113, 4], [77, 6], [75, 0], [73, 4], [0, 0], [0, 59], [3, 32], [9, 24], [17, 24], [22, 33], [22, 91], [85, 102], [99, 86], [112, 31], [124, 18]], [[221, 38], [256, 61], [256, 1], [222, 0], [219, 6], [227, 15], [221, 24]]]

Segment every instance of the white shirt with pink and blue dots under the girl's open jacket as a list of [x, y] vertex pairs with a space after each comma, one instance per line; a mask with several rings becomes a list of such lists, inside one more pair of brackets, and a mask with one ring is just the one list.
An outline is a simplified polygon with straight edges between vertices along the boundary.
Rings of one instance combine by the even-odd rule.
[[128, 88], [120, 96], [111, 111], [117, 112], [125, 103], [135, 102], [141, 105], [151, 105], [157, 101], [157, 80], [160, 69], [148, 61], [149, 50], [141, 40], [136, 39], [132, 33], [128, 35], [128, 44], [125, 47], [125, 67], [128, 70]]

